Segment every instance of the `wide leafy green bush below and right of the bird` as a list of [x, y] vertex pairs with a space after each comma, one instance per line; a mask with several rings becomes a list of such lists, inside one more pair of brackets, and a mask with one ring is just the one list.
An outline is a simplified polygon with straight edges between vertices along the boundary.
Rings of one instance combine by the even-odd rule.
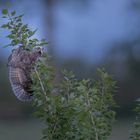
[[[64, 79], [54, 87], [52, 70], [42, 63], [40, 65], [33, 73], [33, 89], [36, 95], [35, 114], [46, 125], [43, 138], [107, 139], [115, 117], [112, 110], [115, 106], [112, 97], [115, 82], [112, 77], [98, 69], [99, 79], [77, 80], [72, 72], [63, 70]], [[43, 88], [41, 85], [44, 85]]]

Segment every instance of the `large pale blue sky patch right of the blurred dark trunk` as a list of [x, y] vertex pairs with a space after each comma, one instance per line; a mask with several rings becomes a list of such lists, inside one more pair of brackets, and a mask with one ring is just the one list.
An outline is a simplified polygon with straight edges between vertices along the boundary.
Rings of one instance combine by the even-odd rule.
[[60, 56], [78, 56], [93, 63], [116, 42], [133, 40], [139, 33], [139, 15], [130, 0], [90, 0], [56, 6], [54, 32]]

